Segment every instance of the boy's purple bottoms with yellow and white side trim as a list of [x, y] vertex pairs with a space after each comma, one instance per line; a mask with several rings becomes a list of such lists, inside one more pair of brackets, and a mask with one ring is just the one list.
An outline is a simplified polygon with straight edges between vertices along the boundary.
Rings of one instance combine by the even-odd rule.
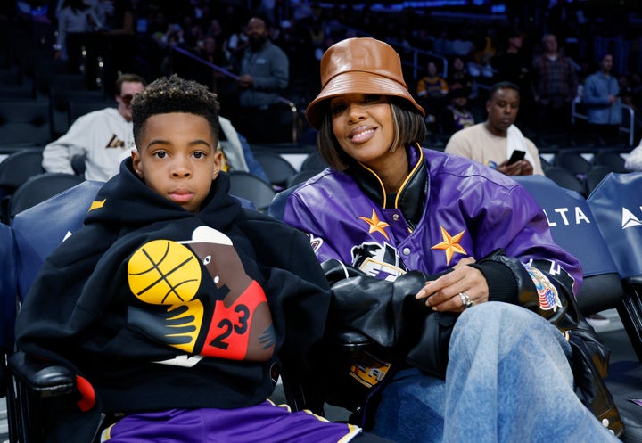
[[357, 426], [328, 422], [309, 411], [265, 401], [237, 409], [170, 409], [129, 414], [103, 431], [109, 443], [343, 443], [361, 432]]

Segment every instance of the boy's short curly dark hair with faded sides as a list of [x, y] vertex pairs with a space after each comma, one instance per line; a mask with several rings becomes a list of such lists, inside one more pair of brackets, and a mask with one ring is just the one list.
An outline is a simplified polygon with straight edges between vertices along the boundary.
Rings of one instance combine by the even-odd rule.
[[217, 95], [206, 86], [185, 80], [176, 74], [152, 81], [132, 100], [132, 122], [136, 145], [144, 133], [147, 119], [157, 114], [185, 112], [203, 117], [210, 124], [212, 135], [218, 140]]

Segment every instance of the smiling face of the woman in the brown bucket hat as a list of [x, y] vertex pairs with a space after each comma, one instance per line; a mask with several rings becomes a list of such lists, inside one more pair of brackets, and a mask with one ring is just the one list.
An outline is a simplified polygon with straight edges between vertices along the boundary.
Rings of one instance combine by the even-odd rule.
[[334, 136], [350, 157], [373, 168], [391, 157], [394, 124], [385, 95], [340, 95], [330, 99], [330, 112]]

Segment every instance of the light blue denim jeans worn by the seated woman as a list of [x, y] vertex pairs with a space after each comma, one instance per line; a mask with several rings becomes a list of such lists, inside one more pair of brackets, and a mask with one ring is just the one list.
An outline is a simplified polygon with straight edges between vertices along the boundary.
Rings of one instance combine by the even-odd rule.
[[570, 352], [563, 334], [527, 309], [466, 309], [446, 381], [399, 372], [383, 390], [373, 433], [399, 443], [619, 442], [575, 395]]

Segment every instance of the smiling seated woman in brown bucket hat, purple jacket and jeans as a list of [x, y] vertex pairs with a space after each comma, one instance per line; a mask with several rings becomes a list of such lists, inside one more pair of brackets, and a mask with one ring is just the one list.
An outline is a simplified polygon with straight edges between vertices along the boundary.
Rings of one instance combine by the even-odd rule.
[[[552, 241], [530, 194], [481, 164], [419, 146], [424, 110], [390, 45], [331, 46], [321, 83], [306, 117], [331, 168], [292, 193], [284, 221], [309, 234], [333, 283], [330, 331], [348, 319], [351, 330], [403, 349], [378, 377], [374, 433], [400, 442], [618, 441], [574, 394], [559, 331], [577, 320], [580, 264]], [[354, 298], [367, 302], [350, 305]], [[369, 321], [380, 305], [380, 321]]]

